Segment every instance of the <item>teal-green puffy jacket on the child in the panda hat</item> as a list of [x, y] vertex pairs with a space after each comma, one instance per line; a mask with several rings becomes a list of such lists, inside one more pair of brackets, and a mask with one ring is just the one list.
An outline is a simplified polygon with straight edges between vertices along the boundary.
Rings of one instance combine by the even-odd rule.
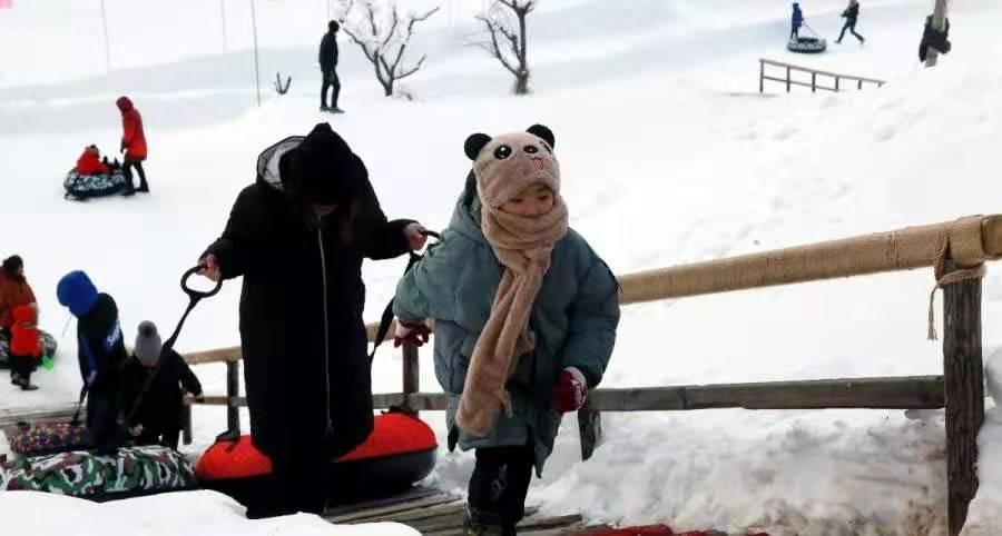
[[536, 349], [519, 360], [508, 383], [512, 415], [501, 414], [488, 437], [455, 425], [470, 356], [491, 312], [504, 267], [481, 232], [480, 200], [468, 187], [442, 241], [407, 271], [396, 287], [393, 312], [405, 322], [435, 320], [435, 376], [449, 395], [450, 450], [525, 445], [536, 447], [542, 473], [560, 427], [552, 389], [564, 367], [577, 367], [589, 389], [602, 379], [619, 324], [619, 288], [609, 268], [584, 239], [569, 230], [553, 248], [550, 270], [529, 322]]

